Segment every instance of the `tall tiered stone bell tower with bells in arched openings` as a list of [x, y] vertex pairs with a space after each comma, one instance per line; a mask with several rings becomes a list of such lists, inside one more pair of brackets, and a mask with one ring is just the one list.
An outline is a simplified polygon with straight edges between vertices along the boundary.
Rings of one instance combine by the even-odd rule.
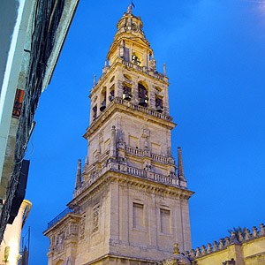
[[192, 248], [193, 192], [180, 148], [178, 171], [171, 154], [169, 79], [165, 65], [156, 71], [142, 26], [130, 5], [91, 89], [88, 152], [82, 172], [79, 161], [72, 212], [44, 232], [50, 265], [154, 264], [176, 242], [181, 252]]

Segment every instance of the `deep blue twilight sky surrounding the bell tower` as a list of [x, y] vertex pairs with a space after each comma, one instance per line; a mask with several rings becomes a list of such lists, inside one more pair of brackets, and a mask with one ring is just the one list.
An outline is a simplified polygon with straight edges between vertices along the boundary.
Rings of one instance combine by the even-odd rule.
[[[265, 1], [134, 0], [159, 72], [167, 65], [173, 155], [183, 151], [193, 248], [265, 222]], [[130, 1], [80, 0], [29, 143], [30, 265], [47, 264], [47, 223], [84, 163], [89, 90]], [[173, 246], [172, 246], [173, 247]]]

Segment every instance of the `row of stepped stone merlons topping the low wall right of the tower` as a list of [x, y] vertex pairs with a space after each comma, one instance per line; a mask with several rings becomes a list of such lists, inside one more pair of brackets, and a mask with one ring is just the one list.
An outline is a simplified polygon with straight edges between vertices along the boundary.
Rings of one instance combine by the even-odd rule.
[[213, 242], [213, 245], [210, 243], [207, 244], [207, 246], [202, 245], [200, 247], [196, 247], [196, 249], [192, 249], [190, 252], [186, 251], [185, 255], [188, 258], [196, 259], [198, 257], [201, 257], [203, 255], [216, 253], [218, 251], [221, 251], [227, 246], [231, 245], [241, 245], [245, 242], [248, 242], [253, 239], [258, 239], [265, 236], [265, 226], [263, 223], [260, 224], [260, 231], [254, 226], [252, 228], [253, 233], [251, 233], [250, 230], [246, 229], [246, 233], [242, 234], [240, 231], [236, 234], [234, 231], [231, 232], [230, 237], [225, 237], [224, 239], [219, 239], [218, 243], [217, 241]]

